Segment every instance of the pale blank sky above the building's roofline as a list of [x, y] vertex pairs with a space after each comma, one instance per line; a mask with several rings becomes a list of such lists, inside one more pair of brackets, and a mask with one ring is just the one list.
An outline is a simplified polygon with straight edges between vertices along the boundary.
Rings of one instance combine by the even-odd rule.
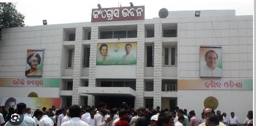
[[25, 16], [26, 26], [41, 26], [43, 19], [49, 24], [91, 22], [91, 10], [102, 8], [145, 5], [145, 19], [158, 17], [162, 8], [177, 10], [236, 10], [236, 15], [253, 15], [253, 0], [72, 0], [72, 1], [11, 1], [17, 2], [17, 10]]

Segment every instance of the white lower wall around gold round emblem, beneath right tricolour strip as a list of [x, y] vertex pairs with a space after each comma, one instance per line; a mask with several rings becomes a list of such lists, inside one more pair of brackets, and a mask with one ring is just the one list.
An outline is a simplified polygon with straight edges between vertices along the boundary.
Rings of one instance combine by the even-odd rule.
[[186, 108], [188, 113], [195, 110], [197, 117], [201, 117], [203, 111], [204, 101], [207, 97], [213, 96], [219, 102], [215, 111], [220, 110], [221, 113], [227, 113], [227, 118], [233, 111], [240, 122], [246, 119], [246, 114], [253, 107], [253, 93], [252, 91], [203, 91], [203, 90], [179, 90], [178, 93], [178, 107]]

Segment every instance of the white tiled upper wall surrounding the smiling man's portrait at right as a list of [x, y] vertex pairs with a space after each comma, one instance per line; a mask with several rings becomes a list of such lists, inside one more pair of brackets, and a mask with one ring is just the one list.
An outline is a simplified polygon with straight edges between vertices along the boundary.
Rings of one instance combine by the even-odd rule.
[[252, 78], [252, 43], [252, 16], [179, 23], [179, 78], [200, 77], [200, 46], [222, 46], [223, 78]]

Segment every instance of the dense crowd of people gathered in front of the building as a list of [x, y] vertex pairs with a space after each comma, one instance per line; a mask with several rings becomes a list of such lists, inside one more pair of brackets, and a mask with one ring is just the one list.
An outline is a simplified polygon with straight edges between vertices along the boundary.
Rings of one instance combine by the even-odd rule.
[[100, 102], [95, 107], [80, 107], [72, 105], [70, 108], [64, 107], [56, 110], [43, 107], [42, 110], [31, 112], [31, 108], [26, 108], [25, 103], [18, 103], [17, 108], [10, 107], [6, 111], [0, 107], [0, 124], [13, 125], [10, 123], [12, 114], [23, 114], [24, 119], [20, 125], [24, 126], [244, 126], [253, 125], [253, 111], [248, 111], [247, 117], [243, 123], [239, 122], [235, 113], [230, 113], [231, 117], [226, 119], [226, 113], [212, 110], [211, 108], [203, 109], [201, 117], [195, 116], [192, 110], [187, 114], [186, 109], [176, 107], [173, 111], [168, 109], [149, 110], [148, 108], [138, 108], [134, 110], [126, 104], [119, 108], [107, 109], [107, 104]]

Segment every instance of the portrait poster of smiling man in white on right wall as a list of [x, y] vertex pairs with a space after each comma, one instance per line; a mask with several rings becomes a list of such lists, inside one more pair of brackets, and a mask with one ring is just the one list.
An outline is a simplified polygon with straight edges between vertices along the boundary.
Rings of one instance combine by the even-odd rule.
[[222, 77], [221, 47], [200, 47], [200, 77]]

